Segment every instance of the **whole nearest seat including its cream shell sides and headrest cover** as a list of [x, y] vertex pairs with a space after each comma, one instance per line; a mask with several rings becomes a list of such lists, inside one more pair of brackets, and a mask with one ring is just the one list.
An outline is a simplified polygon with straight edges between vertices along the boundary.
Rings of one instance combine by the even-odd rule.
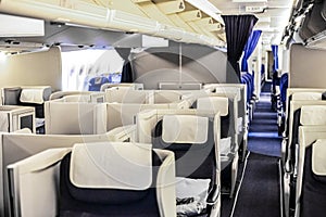
[[[55, 164], [58, 161], [61, 164]], [[45, 164], [38, 165], [40, 162]], [[37, 165], [37, 169], [30, 165]], [[45, 176], [58, 176], [53, 167], [59, 165], [60, 199], [53, 199], [51, 193], [55, 192], [58, 180], [49, 181], [51, 178]], [[11, 189], [14, 195], [22, 199], [26, 196], [24, 193], [29, 193], [30, 197], [13, 203], [17, 216], [176, 216], [174, 154], [152, 150], [151, 144], [79, 143], [71, 152], [48, 150], [8, 168], [15, 179], [11, 183], [21, 183]], [[20, 174], [22, 168], [30, 168], [28, 177]], [[30, 192], [40, 187], [39, 179], [45, 181], [41, 187], [47, 191], [33, 197]], [[59, 210], [55, 210], [57, 203]]]

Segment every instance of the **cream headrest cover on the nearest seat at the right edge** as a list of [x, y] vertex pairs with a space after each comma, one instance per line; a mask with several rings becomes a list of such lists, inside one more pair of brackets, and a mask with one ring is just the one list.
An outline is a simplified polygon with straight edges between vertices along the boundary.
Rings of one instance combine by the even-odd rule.
[[318, 139], [312, 145], [312, 171], [318, 176], [326, 176], [326, 140]]

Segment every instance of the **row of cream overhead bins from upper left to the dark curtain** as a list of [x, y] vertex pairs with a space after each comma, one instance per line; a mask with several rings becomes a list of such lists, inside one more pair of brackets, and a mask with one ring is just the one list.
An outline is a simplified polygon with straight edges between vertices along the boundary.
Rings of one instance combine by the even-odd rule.
[[[217, 34], [210, 34], [202, 30], [197, 31], [187, 24], [187, 21], [190, 21], [190, 23], [208, 21], [208, 25], [212, 24], [209, 25], [209, 31], [221, 29], [221, 23], [216, 22], [218, 15], [212, 14], [214, 17], [210, 17], [205, 12], [205, 17], [202, 17], [202, 10], [197, 10], [195, 4], [189, 8], [189, 11], [186, 11], [186, 5], [189, 7], [187, 4], [189, 3], [188, 0], [160, 1], [158, 3], [148, 0], [128, 0], [129, 4], [130, 2], [137, 4], [137, 9], [139, 10], [137, 13], [115, 9], [114, 3], [102, 5], [80, 0], [1, 0], [0, 12], [98, 29], [140, 33], [179, 42], [203, 43], [208, 46], [225, 43], [223, 40], [220, 41]], [[149, 8], [155, 8], [155, 11], [160, 12], [160, 15], [152, 17], [153, 11], [150, 14], [146, 13], [145, 8], [147, 4], [149, 4]], [[143, 14], [143, 16], [139, 14]], [[174, 18], [172, 17], [176, 16], [179, 18], [178, 23], [173, 22]], [[162, 17], [162, 21], [159, 17]], [[181, 26], [181, 24], [185, 25]], [[200, 35], [205, 35], [212, 38], [212, 40], [201, 40]], [[190, 37], [193, 37], [193, 39], [190, 40]]]

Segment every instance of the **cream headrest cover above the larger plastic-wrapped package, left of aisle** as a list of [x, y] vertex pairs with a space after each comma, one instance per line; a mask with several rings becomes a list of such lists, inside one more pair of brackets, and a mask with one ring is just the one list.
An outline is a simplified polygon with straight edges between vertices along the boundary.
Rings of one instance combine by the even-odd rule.
[[162, 140], [166, 143], [204, 143], [208, 141], [209, 117], [165, 115]]

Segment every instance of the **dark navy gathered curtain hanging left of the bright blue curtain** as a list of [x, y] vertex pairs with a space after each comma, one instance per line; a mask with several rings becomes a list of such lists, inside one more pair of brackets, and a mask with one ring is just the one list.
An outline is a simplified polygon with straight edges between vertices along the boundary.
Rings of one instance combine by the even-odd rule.
[[[225, 23], [227, 43], [227, 82], [240, 81], [239, 60], [250, 37], [253, 26], [258, 22], [254, 15], [222, 15]], [[233, 76], [233, 74], [235, 76]]]

